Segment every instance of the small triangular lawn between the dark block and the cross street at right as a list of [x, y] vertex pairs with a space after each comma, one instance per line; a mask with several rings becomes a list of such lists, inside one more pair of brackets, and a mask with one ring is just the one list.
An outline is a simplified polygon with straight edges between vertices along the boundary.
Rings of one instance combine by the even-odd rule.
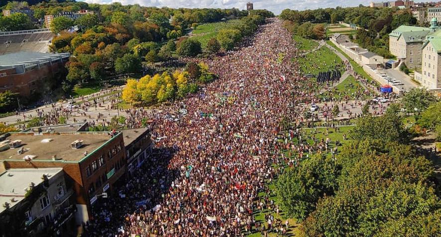
[[364, 91], [364, 88], [361, 86], [360, 82], [358, 82], [354, 77], [348, 76], [341, 83], [332, 88], [332, 92], [326, 91], [322, 94], [322, 97], [334, 97], [336, 99], [355, 99], [357, 92]]

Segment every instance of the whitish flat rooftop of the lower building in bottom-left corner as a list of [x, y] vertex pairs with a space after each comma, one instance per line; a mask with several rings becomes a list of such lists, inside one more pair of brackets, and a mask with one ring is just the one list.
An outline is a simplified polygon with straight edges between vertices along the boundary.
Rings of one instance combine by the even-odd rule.
[[[32, 182], [35, 186], [43, 182], [43, 174], [50, 179], [63, 168], [35, 168], [35, 169], [8, 169], [0, 174], [0, 203], [9, 203], [9, 208], [13, 207], [24, 199], [25, 188]], [[13, 198], [13, 201], [11, 200]], [[5, 208], [0, 205], [0, 213]]]

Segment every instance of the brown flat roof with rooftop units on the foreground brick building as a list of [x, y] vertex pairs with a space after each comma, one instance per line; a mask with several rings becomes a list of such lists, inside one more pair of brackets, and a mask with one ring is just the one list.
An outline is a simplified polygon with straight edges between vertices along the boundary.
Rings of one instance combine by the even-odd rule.
[[[52, 139], [49, 142], [42, 142], [43, 139]], [[0, 152], [0, 160], [16, 159], [24, 160], [25, 156], [35, 156], [33, 160], [52, 160], [56, 156], [60, 160], [80, 161], [87, 154], [111, 139], [107, 132], [78, 132], [78, 133], [54, 133], [34, 135], [34, 133], [10, 133], [6, 140], [12, 142], [21, 140], [21, 146]], [[71, 143], [76, 140], [83, 140], [83, 146], [79, 149], [72, 149]], [[18, 154], [20, 149], [24, 150]]]

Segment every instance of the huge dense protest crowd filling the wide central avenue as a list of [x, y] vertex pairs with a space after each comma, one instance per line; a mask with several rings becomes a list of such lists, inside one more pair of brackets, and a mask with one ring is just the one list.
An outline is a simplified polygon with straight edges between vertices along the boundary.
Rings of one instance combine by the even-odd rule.
[[[280, 53], [286, 56], [276, 62]], [[275, 173], [269, 164], [280, 155], [274, 145], [281, 118], [300, 126], [308, 107], [295, 105], [316, 100], [291, 60], [296, 53], [290, 33], [269, 19], [240, 49], [208, 62], [218, 80], [180, 102], [144, 111], [152, 116], [155, 154], [119, 196], [95, 204], [84, 236], [286, 232], [288, 223], [268, 215], [266, 228], [253, 212], [264, 205], [257, 194]]]

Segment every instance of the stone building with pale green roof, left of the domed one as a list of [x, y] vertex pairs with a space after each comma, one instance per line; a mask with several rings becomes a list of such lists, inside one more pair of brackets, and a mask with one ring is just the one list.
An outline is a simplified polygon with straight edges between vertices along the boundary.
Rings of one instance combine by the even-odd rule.
[[390, 53], [410, 69], [420, 69], [422, 49], [430, 28], [402, 25], [389, 34]]

